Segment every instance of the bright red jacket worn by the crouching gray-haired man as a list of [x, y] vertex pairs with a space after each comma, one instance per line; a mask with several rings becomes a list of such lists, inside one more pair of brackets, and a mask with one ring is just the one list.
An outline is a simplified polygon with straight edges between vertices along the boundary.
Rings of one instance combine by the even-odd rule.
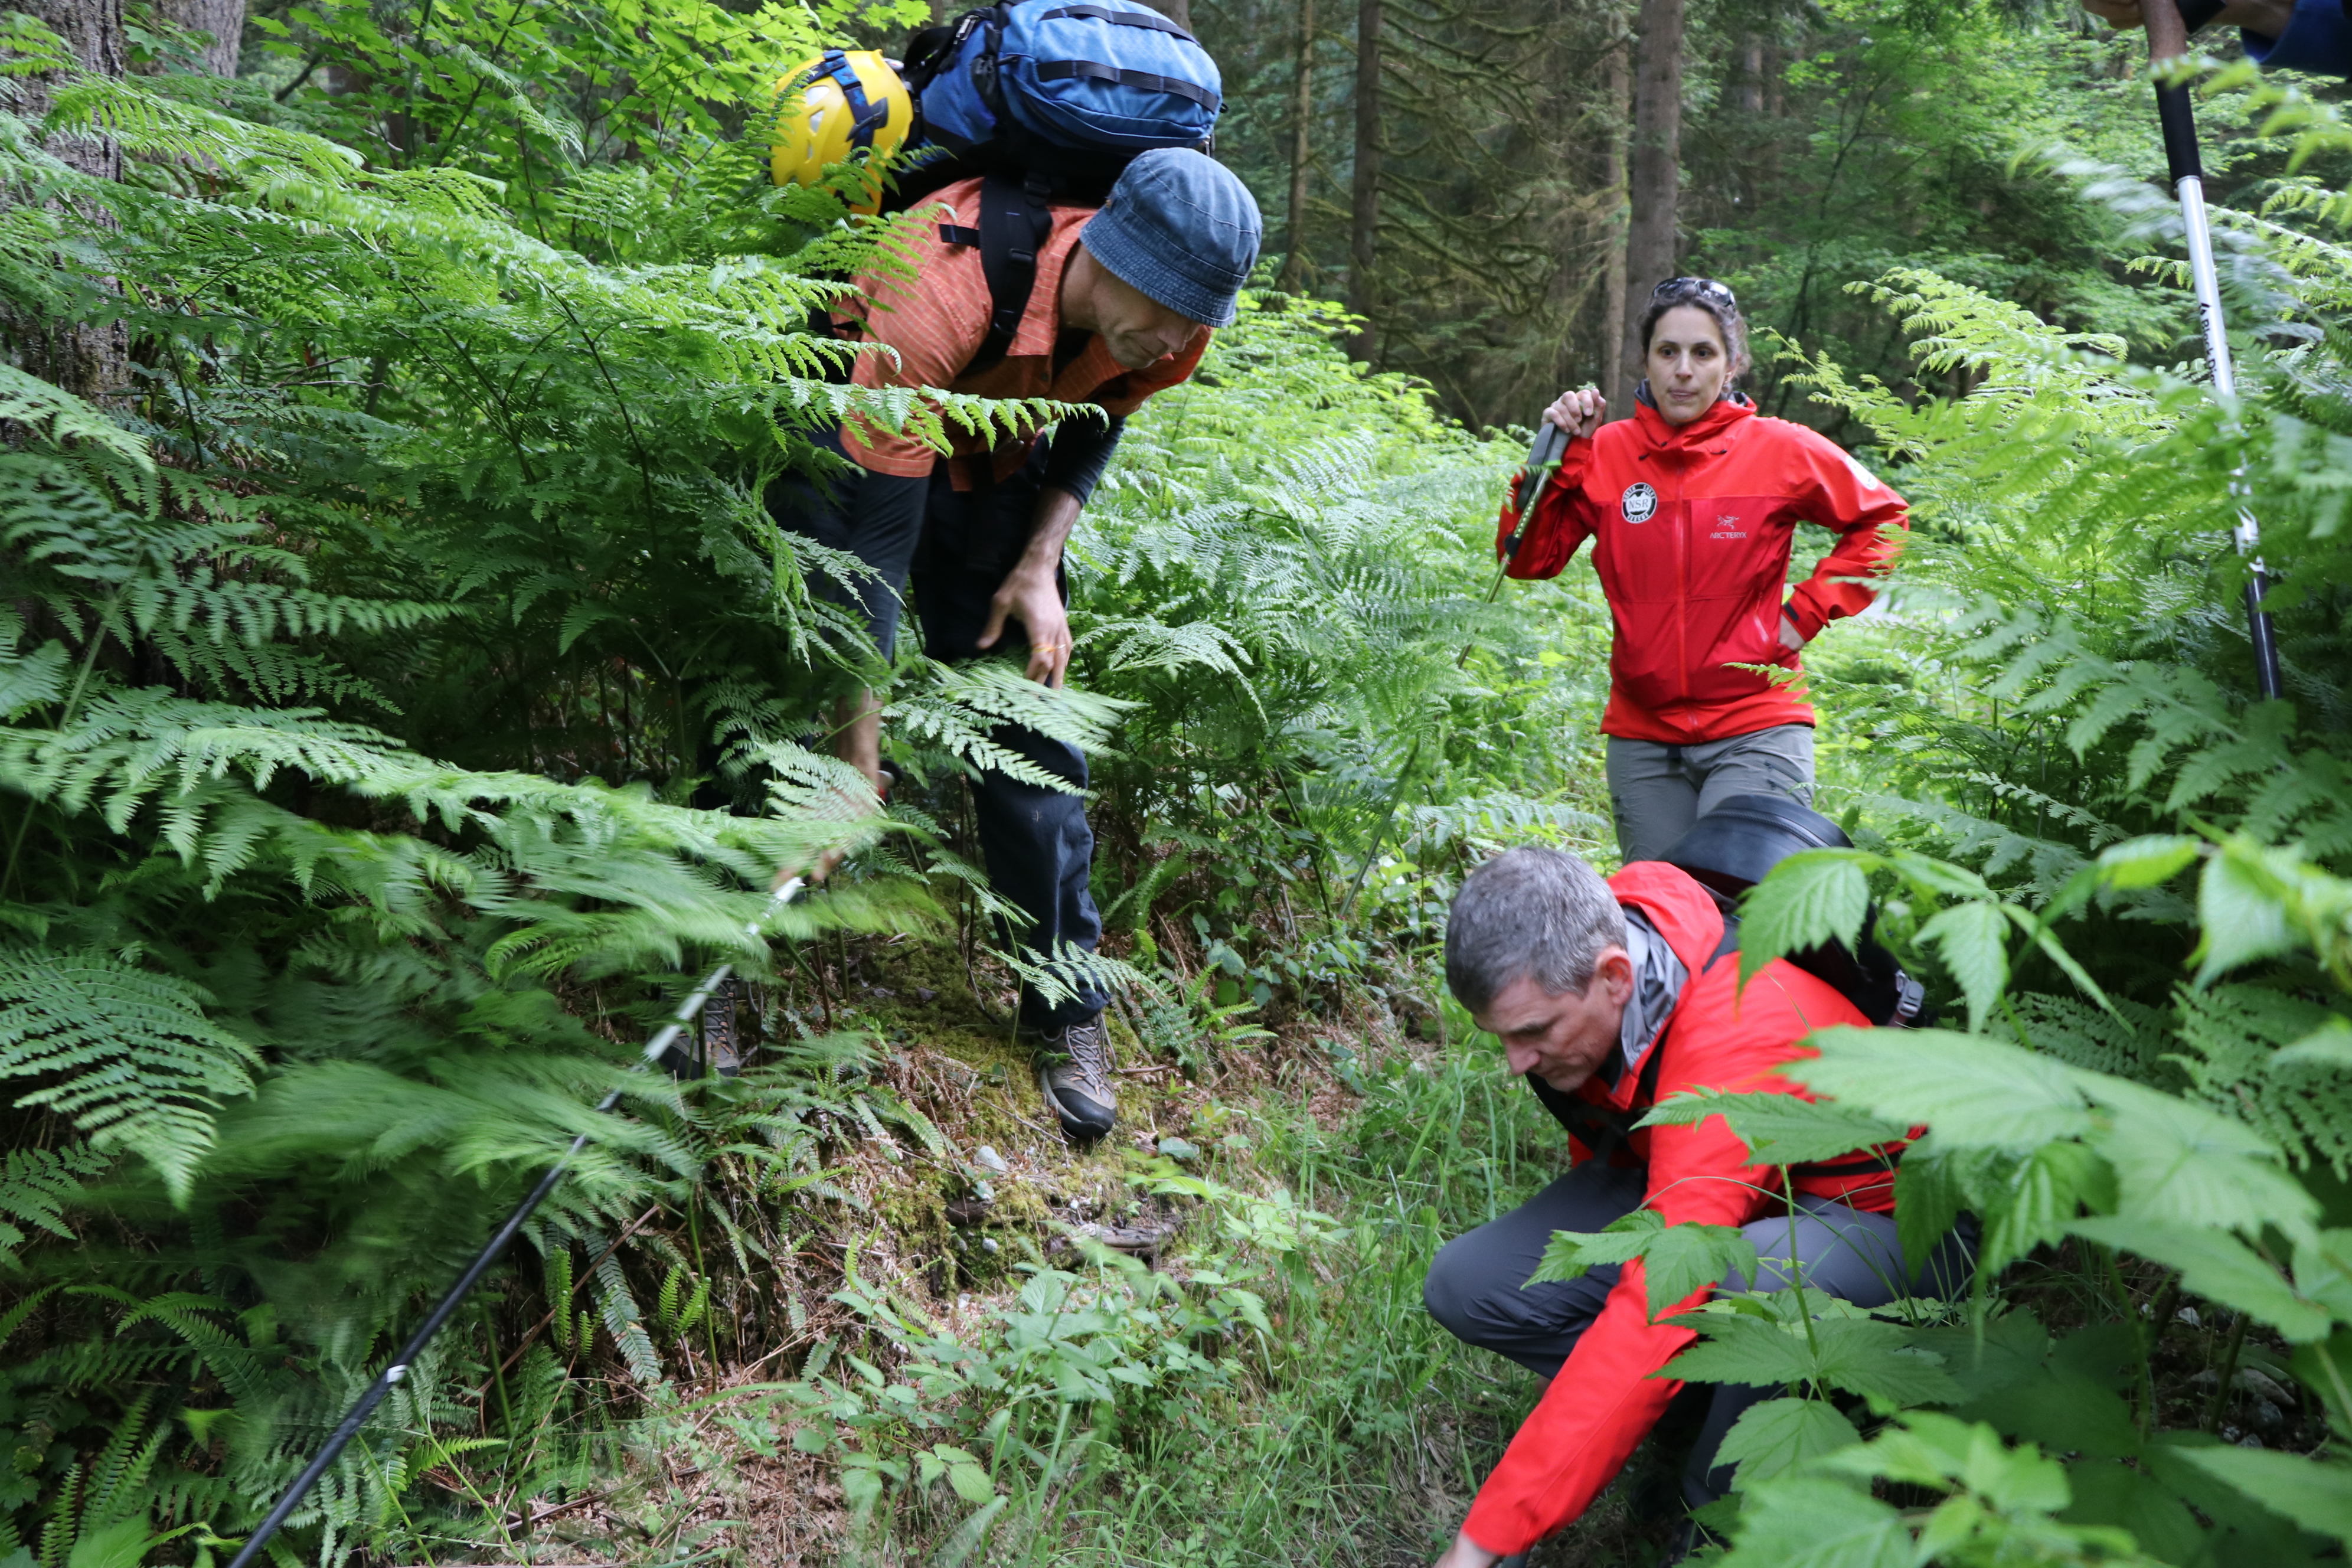
[[[1616, 1086], [1588, 1079], [1576, 1098], [1616, 1112], [1649, 1105], [1691, 1088], [1726, 1093], [1795, 1093], [1780, 1077], [1806, 1034], [1832, 1023], [1865, 1023], [1837, 990], [1795, 964], [1773, 959], [1738, 990], [1738, 957], [1710, 957], [1724, 936], [1724, 917], [1708, 891], [1661, 860], [1637, 860], [1609, 879], [1618, 903], [1642, 910], [1691, 971], [1665, 1030], [1651, 1051], [1661, 1053], [1653, 1093], [1639, 1093], [1639, 1070], [1628, 1067]], [[1811, 1095], [1804, 1095], [1811, 1098]], [[1778, 1211], [1773, 1190], [1780, 1173], [1752, 1164], [1748, 1145], [1731, 1135], [1722, 1117], [1698, 1126], [1651, 1126], [1632, 1133], [1630, 1154], [1649, 1168], [1646, 1208], [1668, 1225], [1748, 1225]], [[1578, 1140], [1576, 1164], [1592, 1159]], [[1900, 1145], [1889, 1145], [1889, 1150]], [[1893, 1213], [1893, 1173], [1875, 1154], [1846, 1157], [1799, 1171], [1797, 1192], [1816, 1192], [1853, 1208]], [[1691, 1312], [1712, 1286], [1658, 1312], [1661, 1319]], [[1651, 1324], [1642, 1262], [1628, 1262], [1599, 1319], [1576, 1342], [1566, 1366], [1543, 1392], [1543, 1401], [1510, 1439], [1503, 1462], [1486, 1476], [1463, 1530], [1489, 1552], [1524, 1552], [1585, 1512], [1635, 1446], [1665, 1413], [1682, 1382], [1651, 1378], [1698, 1335], [1689, 1328]]]

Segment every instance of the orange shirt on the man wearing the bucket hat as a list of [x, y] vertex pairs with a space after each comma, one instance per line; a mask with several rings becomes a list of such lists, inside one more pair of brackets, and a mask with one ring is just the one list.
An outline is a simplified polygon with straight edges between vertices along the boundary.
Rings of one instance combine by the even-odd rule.
[[[978, 223], [981, 181], [967, 179], [938, 193], [936, 205], [948, 212], [938, 221]], [[1192, 376], [1202, 353], [1209, 348], [1209, 329], [1202, 327], [1181, 350], [1143, 369], [1122, 369], [1103, 339], [1087, 336], [1087, 346], [1054, 369], [1054, 346], [1061, 339], [1061, 273], [1077, 244], [1077, 230], [1094, 216], [1094, 207], [1056, 207], [1054, 228], [1037, 254], [1037, 287], [1030, 289], [1028, 310], [1014, 331], [1014, 343], [1002, 360], [978, 374], [964, 374], [971, 357], [988, 339], [988, 277], [981, 273], [981, 249], [976, 244], [948, 244], [938, 235], [938, 223], [924, 223], [908, 261], [913, 280], [868, 273], [858, 277], [858, 299], [849, 306], [849, 320], [835, 322], [842, 336], [868, 343], [887, 343], [896, 350], [896, 362], [887, 353], [858, 355], [856, 386], [936, 386], [974, 397], [1054, 397], [1061, 402], [1091, 402], [1105, 414], [1134, 414], [1152, 393], [1178, 386]], [[934, 404], [936, 411], [936, 404]], [[997, 480], [1009, 480], [1028, 461], [1037, 444], [1037, 430], [1021, 435], [971, 433], [946, 421], [948, 440], [957, 458], [988, 454], [988, 465]], [[938, 454], [920, 440], [896, 435], [882, 425], [851, 416], [842, 423], [842, 447], [861, 468], [873, 473], [920, 480], [931, 473]], [[955, 489], [971, 489], [971, 470], [978, 463], [955, 463]]]

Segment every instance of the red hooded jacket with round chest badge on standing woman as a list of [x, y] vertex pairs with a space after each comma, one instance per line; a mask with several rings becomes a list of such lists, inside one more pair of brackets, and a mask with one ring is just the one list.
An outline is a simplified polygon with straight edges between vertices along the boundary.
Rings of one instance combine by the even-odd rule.
[[[1517, 487], [1512, 487], [1517, 494]], [[1632, 418], [1569, 442], [1536, 496], [1510, 576], [1548, 578], [1592, 538], [1592, 564], [1616, 618], [1602, 733], [1698, 745], [1773, 724], [1811, 724], [1802, 684], [1757, 670], [1799, 670], [1780, 646], [1783, 585], [1799, 522], [1844, 534], [1788, 595], [1804, 639], [1870, 607], [1907, 529], [1903, 496], [1837, 442], [1764, 418], [1750, 402], [1717, 402], [1686, 425], [1639, 404]], [[1496, 548], [1517, 529], [1510, 503]]]

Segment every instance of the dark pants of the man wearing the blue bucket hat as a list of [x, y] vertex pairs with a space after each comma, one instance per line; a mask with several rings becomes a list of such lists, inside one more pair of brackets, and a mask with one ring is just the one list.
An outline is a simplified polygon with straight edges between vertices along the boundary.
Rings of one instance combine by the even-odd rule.
[[[898, 639], [901, 595], [913, 588], [922, 616], [922, 651], [941, 663], [967, 658], [1025, 658], [1028, 628], [1004, 625], [997, 646], [981, 649], [988, 628], [988, 602], [1021, 562], [1044, 475], [1044, 444], [1030, 463], [1009, 480], [985, 489], [957, 491], [941, 463], [922, 517], [875, 538], [854, 538], [858, 475], [833, 480], [830, 489], [790, 480], [769, 491], [776, 520], [816, 543], [847, 550], [875, 569], [854, 590], [826, 578], [818, 592], [854, 604], [866, 614], [868, 635], [887, 658]], [[1063, 602], [1070, 597], [1061, 581]], [[1042, 773], [1087, 788], [1087, 755], [1068, 741], [1054, 741], [1023, 724], [997, 724], [990, 743], [1030, 762]], [[1103, 1011], [1108, 997], [1068, 964], [1051, 964], [1056, 952], [1094, 952], [1103, 919], [1087, 886], [1094, 870], [1094, 830], [1087, 825], [1082, 795], [1049, 790], [983, 769], [971, 785], [971, 809], [981, 837], [981, 860], [995, 891], [1028, 917], [1028, 929], [1011, 933], [1023, 959], [1049, 966], [1075, 997], [1049, 1001], [1030, 985], [1021, 987], [1021, 1023], [1054, 1030], [1084, 1023]]]

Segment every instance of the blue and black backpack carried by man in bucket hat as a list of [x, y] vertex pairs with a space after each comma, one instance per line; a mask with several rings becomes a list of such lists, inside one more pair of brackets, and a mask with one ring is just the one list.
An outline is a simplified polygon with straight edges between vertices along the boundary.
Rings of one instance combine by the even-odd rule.
[[978, 223], [938, 233], [981, 252], [988, 339], [967, 369], [985, 369], [1028, 310], [1051, 207], [1103, 205], [1138, 153], [1209, 153], [1223, 80], [1200, 40], [1131, 0], [1004, 0], [915, 33], [906, 54], [913, 158], [889, 207], [983, 176]]

